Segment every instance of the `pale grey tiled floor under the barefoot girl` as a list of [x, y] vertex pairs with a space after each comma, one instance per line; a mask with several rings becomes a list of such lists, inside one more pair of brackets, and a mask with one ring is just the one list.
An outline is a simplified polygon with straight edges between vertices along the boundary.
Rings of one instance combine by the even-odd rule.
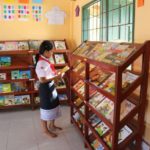
[[39, 110], [0, 111], [0, 150], [85, 150], [83, 140], [70, 124], [70, 109], [62, 106], [56, 124], [63, 127], [57, 138], [42, 133]]

